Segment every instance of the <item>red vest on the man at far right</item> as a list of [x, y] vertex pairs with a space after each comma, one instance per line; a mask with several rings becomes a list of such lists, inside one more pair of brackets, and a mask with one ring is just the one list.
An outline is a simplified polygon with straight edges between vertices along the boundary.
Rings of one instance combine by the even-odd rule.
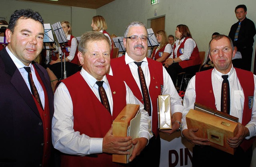
[[[244, 110], [242, 125], [245, 126], [246, 124], [248, 124], [248, 122], [250, 122], [252, 116], [252, 109], [250, 109], [248, 106], [248, 96], [254, 96], [254, 77], [253, 73], [250, 71], [245, 71], [237, 68], [235, 69], [238, 80], [244, 91]], [[196, 102], [216, 109], [211, 77], [212, 69], [196, 73]], [[244, 150], [247, 150], [252, 145], [254, 139], [254, 137], [248, 140], [244, 139], [244, 141], [240, 144], [240, 147], [242, 147]]]

